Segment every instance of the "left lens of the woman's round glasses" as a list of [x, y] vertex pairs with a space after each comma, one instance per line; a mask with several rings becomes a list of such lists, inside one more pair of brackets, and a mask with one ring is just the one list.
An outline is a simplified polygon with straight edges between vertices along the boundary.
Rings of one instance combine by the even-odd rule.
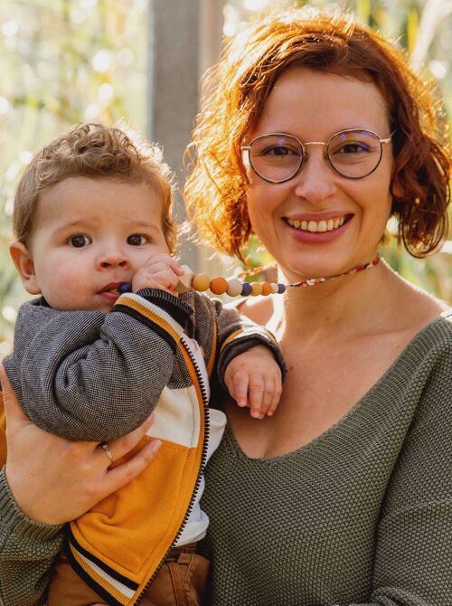
[[303, 162], [303, 147], [290, 135], [263, 135], [250, 146], [250, 165], [263, 179], [280, 183], [297, 173]]

